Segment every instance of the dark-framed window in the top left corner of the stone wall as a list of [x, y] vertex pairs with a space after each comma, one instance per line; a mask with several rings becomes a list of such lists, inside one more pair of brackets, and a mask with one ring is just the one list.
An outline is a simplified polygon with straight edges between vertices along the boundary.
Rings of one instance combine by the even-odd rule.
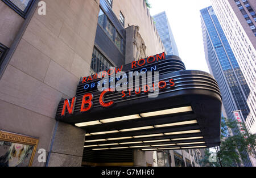
[[28, 12], [30, 11], [32, 4], [35, 0], [2, 0], [6, 5], [10, 6], [15, 12], [26, 19]]

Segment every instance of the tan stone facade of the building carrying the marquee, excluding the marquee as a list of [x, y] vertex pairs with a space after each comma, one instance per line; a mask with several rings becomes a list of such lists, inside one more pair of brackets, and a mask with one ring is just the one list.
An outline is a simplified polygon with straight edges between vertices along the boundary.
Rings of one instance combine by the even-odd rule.
[[[112, 9], [108, 18], [123, 41], [125, 28], [139, 26], [148, 56], [163, 52], [163, 44], [142, 0], [46, 0], [46, 15], [38, 14], [38, 2], [26, 2], [21, 10], [17, 2], [0, 1], [0, 130], [39, 139], [32, 166], [81, 166], [85, 131], [57, 122], [57, 105], [92, 73], [95, 46], [113, 66], [132, 60], [101, 48], [113, 41], [97, 41], [100, 9]], [[46, 163], [37, 161], [39, 149], [46, 150]]]

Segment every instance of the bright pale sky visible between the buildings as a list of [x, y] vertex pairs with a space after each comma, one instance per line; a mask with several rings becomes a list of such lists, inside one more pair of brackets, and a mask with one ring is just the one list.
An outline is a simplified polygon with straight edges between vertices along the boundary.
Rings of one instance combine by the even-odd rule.
[[211, 6], [210, 0], [150, 0], [151, 16], [166, 11], [179, 54], [188, 70], [209, 73], [204, 55], [200, 10]]

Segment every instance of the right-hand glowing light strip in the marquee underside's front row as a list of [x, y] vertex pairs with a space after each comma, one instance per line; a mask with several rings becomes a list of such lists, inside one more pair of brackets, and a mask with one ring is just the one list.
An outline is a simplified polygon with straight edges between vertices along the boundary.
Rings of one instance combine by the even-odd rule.
[[151, 116], [161, 116], [161, 115], [170, 115], [174, 113], [181, 113], [181, 112], [189, 112], [193, 111], [192, 107], [180, 107], [180, 108], [172, 108], [172, 109], [166, 109], [161, 111], [155, 111], [155, 112], [147, 112], [142, 113], [142, 117], [151, 117]]

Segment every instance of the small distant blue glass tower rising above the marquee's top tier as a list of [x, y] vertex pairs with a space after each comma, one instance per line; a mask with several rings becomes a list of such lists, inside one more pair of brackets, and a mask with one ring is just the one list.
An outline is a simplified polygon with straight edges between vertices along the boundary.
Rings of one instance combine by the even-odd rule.
[[179, 56], [177, 45], [175, 43], [174, 35], [172, 34], [172, 29], [166, 12], [160, 12], [159, 14], [154, 15], [153, 18], [156, 29], [158, 30], [160, 38], [164, 44], [164, 48], [166, 48], [167, 54]]

